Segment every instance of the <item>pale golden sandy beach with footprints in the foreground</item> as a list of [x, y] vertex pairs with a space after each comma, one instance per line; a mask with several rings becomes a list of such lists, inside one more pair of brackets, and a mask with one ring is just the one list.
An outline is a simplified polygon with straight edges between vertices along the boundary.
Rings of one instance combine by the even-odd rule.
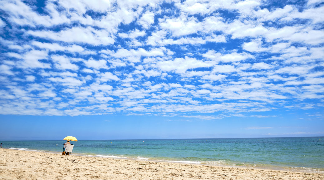
[[0, 149], [0, 179], [296, 179], [324, 174], [109, 159]]

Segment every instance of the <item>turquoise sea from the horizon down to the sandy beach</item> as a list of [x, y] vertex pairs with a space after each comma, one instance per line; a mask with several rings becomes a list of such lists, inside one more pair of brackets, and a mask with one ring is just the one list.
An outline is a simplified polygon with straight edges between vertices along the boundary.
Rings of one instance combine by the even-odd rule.
[[[2, 141], [2, 147], [60, 153], [64, 142]], [[79, 140], [72, 143], [75, 145], [72, 154], [78, 155], [324, 173], [324, 137]]]

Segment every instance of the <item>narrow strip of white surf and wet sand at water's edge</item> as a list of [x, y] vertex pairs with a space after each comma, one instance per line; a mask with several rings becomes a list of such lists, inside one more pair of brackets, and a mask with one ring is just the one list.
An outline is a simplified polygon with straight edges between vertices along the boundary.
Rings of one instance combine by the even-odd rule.
[[[61, 155], [60, 152], [56, 151], [45, 151], [45, 150], [31, 150], [25, 148], [3, 148], [8, 150], [18, 150], [18, 151], [28, 151], [28, 152], [40, 152], [40, 153], [49, 153], [49, 154], [58, 154]], [[176, 163], [176, 164], [188, 164], [188, 165], [202, 165], [202, 166], [213, 166], [213, 167], [222, 167], [222, 168], [242, 168], [242, 169], [258, 169], [258, 170], [268, 170], [268, 171], [288, 171], [288, 172], [297, 172], [297, 173], [318, 173], [324, 174], [324, 171], [318, 170], [319, 168], [311, 168], [311, 167], [281, 167], [281, 166], [272, 166], [264, 165], [262, 167], [249, 167], [249, 166], [233, 166], [233, 165], [224, 165], [224, 164], [212, 164], [212, 163], [196, 163], [191, 161], [173, 161], [173, 160], [154, 160], [150, 158], [131, 158], [131, 157], [119, 157], [119, 156], [110, 156], [110, 155], [86, 155], [86, 154], [78, 154], [72, 153], [72, 156], [81, 156], [81, 157], [95, 157], [95, 158], [107, 158], [107, 159], [120, 159], [120, 160], [133, 160], [133, 161], [144, 161], [144, 162], [166, 162], [166, 163]], [[312, 169], [312, 170], [307, 170]]]

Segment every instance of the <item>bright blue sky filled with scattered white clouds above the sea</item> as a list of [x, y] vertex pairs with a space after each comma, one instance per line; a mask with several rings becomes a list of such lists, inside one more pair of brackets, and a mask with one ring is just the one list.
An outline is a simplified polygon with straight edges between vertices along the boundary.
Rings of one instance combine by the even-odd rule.
[[324, 136], [323, 4], [1, 1], [0, 137]]

